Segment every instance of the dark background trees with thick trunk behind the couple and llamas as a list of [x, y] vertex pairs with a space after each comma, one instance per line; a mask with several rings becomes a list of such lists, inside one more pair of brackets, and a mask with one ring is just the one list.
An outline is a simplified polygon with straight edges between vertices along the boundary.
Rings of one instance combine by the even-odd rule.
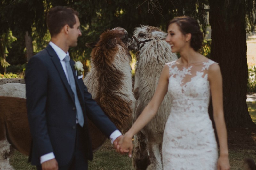
[[57, 5], [80, 13], [82, 36], [69, 52], [84, 67], [89, 67], [91, 52], [85, 44], [97, 41], [107, 29], [120, 26], [132, 35], [135, 27], [145, 24], [166, 31], [166, 23], [182, 15], [197, 19], [205, 37], [211, 26], [211, 39], [204, 40], [201, 53], [221, 67], [227, 124], [251, 122], [246, 105], [246, 32], [255, 29], [256, 0], [0, 0], [0, 73], [22, 72], [31, 56], [46, 47], [46, 14]]

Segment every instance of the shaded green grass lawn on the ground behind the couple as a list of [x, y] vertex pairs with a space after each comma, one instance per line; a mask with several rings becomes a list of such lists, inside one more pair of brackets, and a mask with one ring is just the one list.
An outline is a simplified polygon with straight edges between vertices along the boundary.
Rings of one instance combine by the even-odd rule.
[[[248, 111], [256, 124], [256, 102], [247, 102]], [[256, 150], [253, 149], [229, 149], [229, 160], [232, 170], [245, 170], [243, 160], [252, 158], [256, 160]], [[14, 151], [10, 163], [16, 170], [34, 170], [28, 162], [28, 156]], [[132, 160], [127, 155], [119, 155], [112, 149], [109, 140], [94, 154], [93, 161], [89, 161], [89, 170], [132, 170]]]

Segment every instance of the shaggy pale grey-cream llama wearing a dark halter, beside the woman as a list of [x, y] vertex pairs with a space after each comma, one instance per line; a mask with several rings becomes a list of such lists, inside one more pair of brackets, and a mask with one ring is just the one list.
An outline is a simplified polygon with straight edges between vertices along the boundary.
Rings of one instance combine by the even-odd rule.
[[[135, 120], [153, 97], [164, 64], [177, 59], [165, 42], [166, 36], [167, 33], [159, 28], [141, 25], [135, 28], [129, 42], [129, 49], [139, 50], [134, 82]], [[170, 101], [170, 96], [166, 94], [156, 116], [134, 137], [132, 164], [136, 170], [163, 169], [161, 147], [165, 123], [171, 111]]]

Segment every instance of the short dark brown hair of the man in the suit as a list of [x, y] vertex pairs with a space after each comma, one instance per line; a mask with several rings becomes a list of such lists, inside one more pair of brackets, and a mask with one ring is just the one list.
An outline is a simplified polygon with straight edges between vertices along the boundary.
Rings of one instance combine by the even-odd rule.
[[60, 33], [63, 26], [68, 24], [70, 28], [76, 24], [75, 15], [78, 17], [78, 12], [72, 8], [65, 6], [55, 6], [51, 8], [47, 14], [47, 26], [51, 37]]

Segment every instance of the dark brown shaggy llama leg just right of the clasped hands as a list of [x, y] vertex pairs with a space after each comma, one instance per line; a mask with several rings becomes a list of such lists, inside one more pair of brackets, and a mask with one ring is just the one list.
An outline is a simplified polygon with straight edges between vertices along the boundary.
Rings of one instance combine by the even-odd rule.
[[137, 133], [137, 135], [134, 136], [132, 166], [136, 170], [146, 170], [148, 164], [146, 136], [140, 131]]

